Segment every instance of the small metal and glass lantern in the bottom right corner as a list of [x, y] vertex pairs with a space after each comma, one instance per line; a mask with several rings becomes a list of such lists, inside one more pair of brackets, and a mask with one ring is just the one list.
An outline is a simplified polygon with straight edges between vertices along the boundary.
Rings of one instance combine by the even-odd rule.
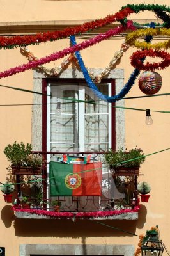
[[164, 245], [162, 241], [158, 239], [158, 232], [151, 230], [141, 246], [142, 256], [162, 256], [164, 252]]

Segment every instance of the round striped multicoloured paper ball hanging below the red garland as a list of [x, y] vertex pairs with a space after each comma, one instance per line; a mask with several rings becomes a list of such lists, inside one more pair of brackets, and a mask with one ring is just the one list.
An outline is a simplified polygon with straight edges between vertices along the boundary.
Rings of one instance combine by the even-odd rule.
[[162, 86], [162, 77], [157, 72], [145, 71], [139, 76], [139, 88], [147, 95], [157, 93]]

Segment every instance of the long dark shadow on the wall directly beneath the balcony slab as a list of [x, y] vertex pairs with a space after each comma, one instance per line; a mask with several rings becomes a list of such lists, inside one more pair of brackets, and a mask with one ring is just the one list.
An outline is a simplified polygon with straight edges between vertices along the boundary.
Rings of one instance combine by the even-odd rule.
[[[14, 227], [15, 235], [23, 237], [122, 237], [134, 236], [137, 220], [76, 220], [72, 222], [72, 220], [15, 219]], [[120, 229], [132, 234], [122, 232]]]

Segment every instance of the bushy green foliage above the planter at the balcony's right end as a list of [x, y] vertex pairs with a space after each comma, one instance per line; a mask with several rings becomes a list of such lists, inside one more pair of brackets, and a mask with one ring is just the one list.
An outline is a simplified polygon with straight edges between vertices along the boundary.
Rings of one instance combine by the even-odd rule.
[[[112, 168], [139, 168], [145, 159], [145, 156], [142, 152], [143, 150], [140, 148], [134, 148], [128, 152], [124, 152], [123, 148], [120, 148], [120, 150], [114, 152], [111, 148], [109, 152], [104, 155], [104, 159], [109, 166], [112, 166]], [[127, 162], [120, 164], [123, 161]]]

